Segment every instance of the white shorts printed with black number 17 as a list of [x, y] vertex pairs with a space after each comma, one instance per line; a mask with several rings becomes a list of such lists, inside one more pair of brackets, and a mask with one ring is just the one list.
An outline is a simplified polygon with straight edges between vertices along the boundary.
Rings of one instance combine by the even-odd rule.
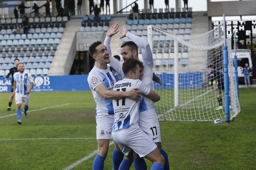
[[147, 111], [139, 113], [139, 127], [152, 139], [155, 143], [161, 142], [160, 125], [153, 107]]

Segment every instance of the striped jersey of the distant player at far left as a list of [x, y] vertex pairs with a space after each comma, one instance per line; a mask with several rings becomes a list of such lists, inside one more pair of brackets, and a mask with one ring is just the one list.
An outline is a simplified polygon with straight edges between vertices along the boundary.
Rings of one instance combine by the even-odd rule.
[[15, 93], [26, 94], [26, 91], [29, 89], [30, 84], [34, 83], [34, 80], [30, 73], [20, 73], [16, 72], [13, 75], [14, 81], [16, 81], [16, 90]]

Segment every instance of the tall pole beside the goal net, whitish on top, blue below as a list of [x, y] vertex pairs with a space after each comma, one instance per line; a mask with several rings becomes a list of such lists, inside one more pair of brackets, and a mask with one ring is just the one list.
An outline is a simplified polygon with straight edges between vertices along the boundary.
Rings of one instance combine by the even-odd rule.
[[223, 15], [223, 31], [224, 31], [224, 47], [223, 47], [223, 63], [224, 63], [224, 92], [225, 92], [225, 122], [230, 122], [230, 99], [229, 99], [229, 75], [228, 75], [228, 47], [226, 45], [226, 21]]

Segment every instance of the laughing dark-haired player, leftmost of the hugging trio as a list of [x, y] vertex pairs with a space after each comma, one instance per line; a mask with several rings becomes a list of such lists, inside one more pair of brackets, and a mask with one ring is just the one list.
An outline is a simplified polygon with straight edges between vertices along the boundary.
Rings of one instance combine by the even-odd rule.
[[[112, 99], [127, 97], [138, 101], [141, 97], [141, 92], [138, 91], [138, 88], [133, 88], [131, 91], [126, 92], [113, 91], [114, 83], [118, 81], [118, 77], [122, 77], [122, 74], [118, 74], [117, 71], [108, 66], [108, 63], [110, 63], [108, 51], [100, 41], [93, 43], [89, 47], [89, 53], [95, 60], [95, 66], [90, 71], [87, 82], [96, 102], [96, 136], [98, 144], [97, 155], [93, 161], [92, 169], [103, 170], [114, 122]], [[116, 61], [118, 62], [118, 60]], [[113, 155], [116, 155], [116, 153], [113, 153]], [[116, 157], [119, 158], [120, 156], [117, 155]]]

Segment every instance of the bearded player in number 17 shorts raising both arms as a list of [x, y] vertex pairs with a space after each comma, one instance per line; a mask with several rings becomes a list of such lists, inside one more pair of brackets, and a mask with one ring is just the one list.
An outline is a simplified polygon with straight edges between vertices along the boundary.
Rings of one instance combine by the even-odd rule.
[[[110, 27], [110, 29], [108, 29], [104, 44], [106, 45], [109, 56], [110, 56], [110, 61], [111, 61], [110, 65], [115, 70], [118, 70], [120, 72], [122, 71], [122, 63], [118, 62], [114, 57], [112, 57], [111, 48], [110, 48], [111, 37], [118, 33], [118, 27], [119, 27], [119, 24], [116, 23], [112, 27]], [[132, 40], [122, 44], [121, 46], [121, 54], [123, 56], [124, 61], [128, 58], [135, 58], [139, 60], [138, 46], [142, 48], [142, 63], [144, 66], [144, 71], [143, 71], [144, 75], [141, 81], [145, 83], [150, 89], [153, 89], [152, 80], [153, 80], [154, 62], [153, 62], [153, 54], [148, 42], [145, 39], [128, 32], [125, 25], [123, 25], [123, 27], [121, 28], [120, 33], [122, 34], [120, 39], [123, 37], [127, 37], [128, 39]], [[152, 99], [148, 97], [144, 97], [144, 100], [146, 103], [146, 107], [143, 107], [144, 109], [143, 112], [140, 112], [139, 114], [139, 126], [156, 143], [160, 152], [165, 158], [164, 170], [169, 170], [168, 155], [162, 148], [160, 126], [159, 126], [158, 116], [157, 116], [156, 108], [154, 106], [154, 102], [152, 101]], [[147, 165], [145, 160], [143, 160], [143, 158], [138, 157], [137, 155], [135, 156], [135, 159], [134, 159], [134, 166], [136, 170], [142, 170]]]

